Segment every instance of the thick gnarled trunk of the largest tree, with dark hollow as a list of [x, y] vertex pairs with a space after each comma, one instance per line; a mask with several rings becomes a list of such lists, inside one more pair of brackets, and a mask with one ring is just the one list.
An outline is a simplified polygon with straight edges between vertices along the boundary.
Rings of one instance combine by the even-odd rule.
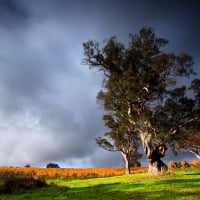
[[140, 134], [143, 148], [146, 154], [146, 159], [148, 162], [149, 174], [157, 174], [158, 172], [164, 172], [167, 170], [166, 164], [161, 160], [165, 156], [167, 147], [165, 144], [159, 144], [153, 146], [151, 142], [151, 134], [142, 133]]

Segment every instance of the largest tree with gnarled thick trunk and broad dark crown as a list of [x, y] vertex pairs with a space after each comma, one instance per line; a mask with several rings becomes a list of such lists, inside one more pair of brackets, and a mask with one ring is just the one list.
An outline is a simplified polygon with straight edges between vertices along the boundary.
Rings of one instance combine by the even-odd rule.
[[187, 97], [188, 88], [179, 81], [194, 74], [193, 59], [185, 53], [163, 52], [167, 44], [152, 28], [130, 34], [127, 47], [116, 37], [102, 47], [96, 41], [83, 44], [84, 64], [104, 73], [104, 110], [123, 119], [140, 138], [149, 173], [166, 169], [161, 160], [166, 144], [175, 145], [177, 135], [184, 140], [186, 126], [192, 128], [200, 118], [195, 99]]

